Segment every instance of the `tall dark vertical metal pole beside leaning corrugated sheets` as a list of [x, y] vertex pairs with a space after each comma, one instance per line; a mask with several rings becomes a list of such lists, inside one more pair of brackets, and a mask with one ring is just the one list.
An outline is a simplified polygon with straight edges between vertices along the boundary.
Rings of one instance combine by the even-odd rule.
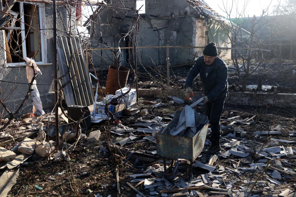
[[60, 145], [59, 138], [59, 104], [58, 104], [58, 64], [57, 64], [57, 45], [56, 45], [56, 0], [53, 0], [52, 4], [53, 10], [53, 65], [55, 67], [55, 146], [58, 147]]

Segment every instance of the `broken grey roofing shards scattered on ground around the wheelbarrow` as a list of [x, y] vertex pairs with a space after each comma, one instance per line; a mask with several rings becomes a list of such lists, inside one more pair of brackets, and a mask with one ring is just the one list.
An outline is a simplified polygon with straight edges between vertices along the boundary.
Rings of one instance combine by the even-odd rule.
[[[113, 140], [113, 143], [128, 156], [125, 163], [131, 158], [134, 158], [136, 163], [155, 160], [159, 162], [148, 168], [144, 165], [142, 173], [130, 175], [132, 179], [127, 184], [138, 193], [137, 196], [216, 194], [240, 197], [263, 195], [294, 197], [296, 185], [289, 182], [294, 180], [296, 175], [294, 169], [296, 150], [292, 147], [296, 142], [271, 138], [270, 143], [264, 143], [267, 135], [281, 134], [283, 128], [281, 125], [271, 128], [272, 131], [255, 131], [251, 133], [253, 139], [247, 140], [247, 132], [243, 127], [252, 125], [255, 117], [239, 119], [239, 116], [235, 116], [221, 120], [224, 131], [224, 136], [221, 138], [221, 152], [217, 155], [201, 153], [193, 163], [194, 173], [184, 171], [190, 165], [190, 162], [184, 159], [164, 160], [163, 163], [163, 158], [157, 156], [154, 137], [168, 125], [171, 121], [169, 117], [154, 117], [152, 120], [139, 118], [136, 119], [136, 123], [128, 127], [119, 124], [111, 129], [111, 133], [120, 135]], [[296, 131], [290, 131], [290, 136], [295, 136], [295, 133]], [[133, 143], [142, 143], [144, 144], [142, 147], [149, 149], [130, 148], [133, 147]], [[207, 140], [204, 149], [209, 144]], [[249, 173], [253, 174], [251, 179]], [[144, 191], [139, 191], [137, 187], [142, 185]]]

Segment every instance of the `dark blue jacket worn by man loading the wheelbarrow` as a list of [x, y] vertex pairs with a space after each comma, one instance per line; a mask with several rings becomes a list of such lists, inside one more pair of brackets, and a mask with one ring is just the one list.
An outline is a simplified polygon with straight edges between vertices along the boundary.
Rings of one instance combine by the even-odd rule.
[[192, 87], [193, 79], [199, 74], [204, 87], [204, 94], [208, 96], [210, 101], [214, 101], [227, 94], [228, 69], [225, 62], [219, 57], [213, 62], [208, 76], [206, 76], [205, 66], [207, 65], [204, 62], [204, 56], [200, 56], [189, 70], [184, 87]]

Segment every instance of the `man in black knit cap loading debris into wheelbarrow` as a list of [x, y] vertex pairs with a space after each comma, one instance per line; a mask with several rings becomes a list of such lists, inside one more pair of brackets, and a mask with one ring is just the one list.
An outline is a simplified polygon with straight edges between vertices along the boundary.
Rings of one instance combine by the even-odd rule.
[[211, 146], [204, 153], [214, 154], [221, 150], [220, 117], [228, 93], [228, 69], [225, 62], [217, 57], [218, 51], [214, 42], [205, 46], [203, 54], [196, 60], [187, 74], [184, 86], [185, 97], [189, 100], [190, 95], [194, 96], [191, 87], [193, 79], [199, 74], [204, 89], [206, 115], [211, 124], [211, 133], [207, 135], [207, 138], [211, 141]]

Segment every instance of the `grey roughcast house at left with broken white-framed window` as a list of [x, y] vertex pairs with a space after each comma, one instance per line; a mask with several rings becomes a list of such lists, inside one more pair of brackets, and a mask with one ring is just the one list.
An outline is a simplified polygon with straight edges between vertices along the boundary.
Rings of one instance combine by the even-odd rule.
[[[2, 10], [7, 11], [11, 2], [2, 1]], [[43, 107], [54, 106], [52, 2], [15, 1], [6, 13], [0, 24], [1, 99], [10, 111], [18, 109], [29, 89], [24, 61], [28, 57], [35, 60], [42, 72], [37, 76], [37, 87]], [[64, 6], [57, 6], [58, 36], [66, 35], [69, 29], [76, 32], [75, 14], [67, 13]], [[31, 111], [30, 105], [28, 99], [20, 113]]]

